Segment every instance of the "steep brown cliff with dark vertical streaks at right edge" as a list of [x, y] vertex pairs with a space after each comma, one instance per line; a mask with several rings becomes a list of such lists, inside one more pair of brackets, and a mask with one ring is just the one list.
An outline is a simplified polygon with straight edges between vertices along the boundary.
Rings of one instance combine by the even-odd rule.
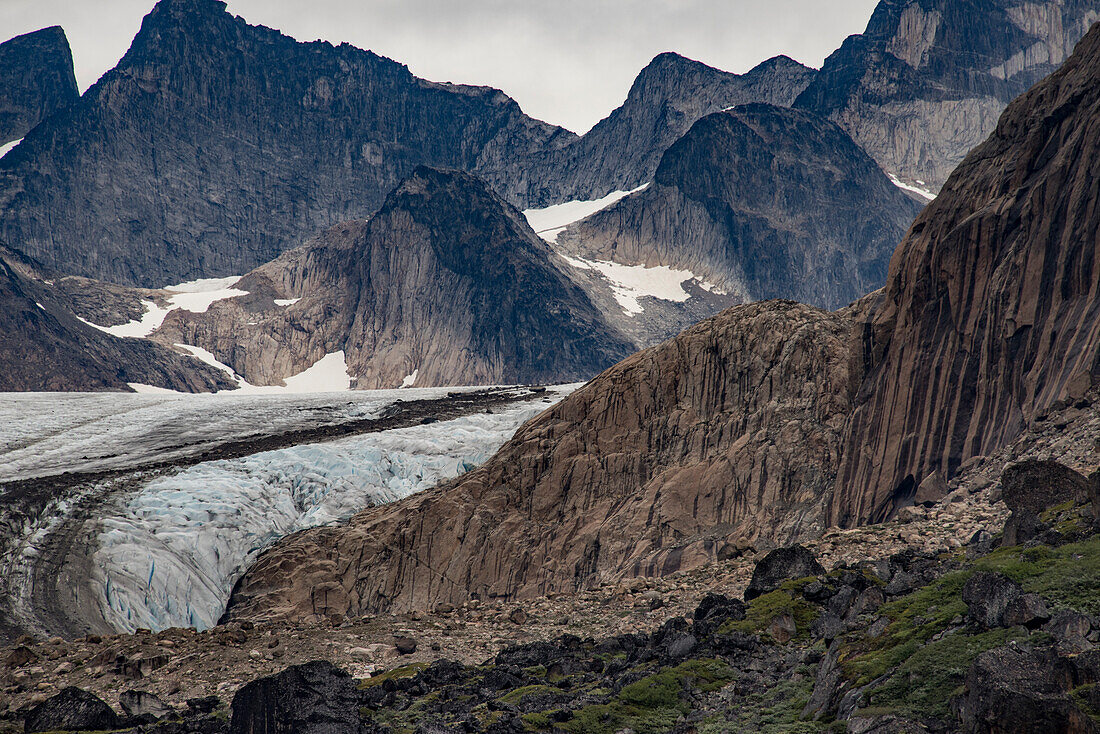
[[1013, 102], [917, 218], [861, 327], [831, 518], [904, 503], [1100, 376], [1100, 26]]

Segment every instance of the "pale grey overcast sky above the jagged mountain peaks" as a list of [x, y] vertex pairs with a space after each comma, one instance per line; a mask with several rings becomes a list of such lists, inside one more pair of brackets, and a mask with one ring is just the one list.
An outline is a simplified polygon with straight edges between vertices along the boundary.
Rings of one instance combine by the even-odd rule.
[[[675, 51], [743, 73], [777, 54], [820, 67], [877, 0], [230, 0], [299, 41], [346, 41], [436, 81], [504, 89], [532, 117], [584, 132]], [[86, 89], [114, 66], [154, 0], [0, 0], [0, 41], [62, 25]]]

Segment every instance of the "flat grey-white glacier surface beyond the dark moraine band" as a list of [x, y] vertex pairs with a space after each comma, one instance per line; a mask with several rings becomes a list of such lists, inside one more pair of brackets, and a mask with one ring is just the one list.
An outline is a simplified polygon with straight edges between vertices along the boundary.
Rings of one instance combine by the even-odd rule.
[[173, 461], [257, 435], [376, 417], [398, 401], [474, 387], [328, 394], [8, 393], [0, 399], [0, 482]]

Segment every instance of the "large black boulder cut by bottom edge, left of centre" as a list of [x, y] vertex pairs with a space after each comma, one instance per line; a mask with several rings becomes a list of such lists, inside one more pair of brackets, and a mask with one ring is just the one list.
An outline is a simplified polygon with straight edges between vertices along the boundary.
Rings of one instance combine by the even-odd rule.
[[360, 692], [331, 662], [287, 668], [233, 697], [231, 734], [362, 734]]

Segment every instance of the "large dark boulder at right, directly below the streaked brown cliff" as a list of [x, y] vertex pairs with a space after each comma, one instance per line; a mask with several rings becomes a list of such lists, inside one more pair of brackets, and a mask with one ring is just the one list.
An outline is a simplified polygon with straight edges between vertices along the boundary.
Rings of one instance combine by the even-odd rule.
[[1047, 507], [1084, 502], [1089, 496], [1089, 480], [1057, 461], [1028, 459], [1004, 470], [1001, 490], [1012, 511], [1004, 524], [1003, 545], [1016, 546], [1045, 529], [1038, 515]]

